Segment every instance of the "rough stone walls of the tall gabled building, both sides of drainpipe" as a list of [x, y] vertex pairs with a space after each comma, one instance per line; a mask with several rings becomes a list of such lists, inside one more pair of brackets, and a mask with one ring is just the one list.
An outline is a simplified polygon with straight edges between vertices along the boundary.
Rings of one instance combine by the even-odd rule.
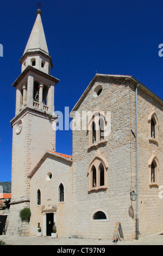
[[[102, 84], [103, 92], [93, 97], [95, 88]], [[76, 191], [78, 208], [78, 230], [81, 237], [111, 239], [112, 230], [116, 222], [121, 222], [126, 239], [135, 237], [135, 216], [129, 217], [131, 205], [130, 191], [136, 191], [136, 107], [135, 84], [124, 78], [97, 76], [89, 92], [74, 110], [111, 112], [111, 133], [106, 145], [99, 145], [98, 149], [87, 150], [89, 138], [86, 131], [73, 132], [73, 169], [76, 173], [76, 187], [83, 189]], [[148, 115], [155, 108], [159, 119], [159, 143], [149, 141]], [[161, 212], [163, 201], [159, 198], [158, 186], [149, 186], [149, 166], [151, 156], [159, 159], [159, 182], [162, 180], [162, 101], [154, 99], [146, 90], [139, 88], [138, 95], [138, 127], [139, 127], [139, 231], [140, 235], [152, 234], [163, 229]], [[76, 145], [78, 145], [76, 147]], [[106, 191], [88, 193], [87, 169], [95, 157], [96, 152], [108, 162]], [[80, 179], [78, 179], [80, 177]], [[81, 184], [83, 181], [83, 184]], [[82, 216], [82, 207], [85, 214]], [[135, 203], [132, 202], [135, 211]], [[90, 221], [92, 212], [98, 209], [106, 211], [108, 222], [93, 223]], [[153, 216], [154, 220], [153, 220]], [[150, 220], [151, 223], [149, 224]], [[82, 225], [80, 224], [82, 223]], [[84, 225], [85, 223], [85, 230]], [[99, 225], [99, 229], [97, 228]], [[102, 226], [103, 225], [103, 226]], [[101, 230], [100, 232], [95, 230]], [[87, 232], [86, 232], [87, 230]], [[89, 231], [88, 231], [89, 230]], [[85, 235], [87, 233], [87, 235]]]

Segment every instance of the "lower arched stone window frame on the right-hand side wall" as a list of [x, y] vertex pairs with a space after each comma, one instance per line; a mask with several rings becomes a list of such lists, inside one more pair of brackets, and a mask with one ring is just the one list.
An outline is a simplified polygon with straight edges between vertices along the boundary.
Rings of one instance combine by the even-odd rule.
[[[152, 163], [154, 164], [154, 182], [151, 181], [152, 179]], [[152, 157], [148, 161], [148, 168], [149, 168], [149, 186], [150, 187], [159, 187], [159, 168], [160, 163], [158, 157], [153, 154]]]

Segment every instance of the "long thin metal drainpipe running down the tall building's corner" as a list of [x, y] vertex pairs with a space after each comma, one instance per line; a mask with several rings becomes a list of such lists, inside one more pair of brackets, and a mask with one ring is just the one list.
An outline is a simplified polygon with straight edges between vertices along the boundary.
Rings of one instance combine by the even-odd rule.
[[138, 108], [137, 108], [137, 87], [139, 87], [139, 83], [136, 86], [135, 95], [136, 95], [136, 240], [139, 239], [139, 219], [138, 219]]

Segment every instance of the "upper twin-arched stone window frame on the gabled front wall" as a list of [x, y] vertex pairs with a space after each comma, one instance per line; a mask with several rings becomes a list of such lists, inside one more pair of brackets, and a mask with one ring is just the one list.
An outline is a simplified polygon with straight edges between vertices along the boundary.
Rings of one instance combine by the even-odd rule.
[[[104, 138], [101, 139], [101, 127], [100, 127], [100, 120], [103, 120], [103, 124], [104, 124], [104, 131], [103, 131], [103, 136]], [[89, 133], [89, 145], [88, 145], [88, 149], [91, 149], [92, 147], [96, 147], [98, 148], [98, 146], [100, 144], [106, 144], [108, 142], [108, 138], [106, 136], [106, 126], [107, 126], [107, 123], [106, 123], [106, 116], [105, 114], [99, 112], [99, 111], [95, 111], [92, 113], [89, 121], [88, 121], [88, 124], [87, 124], [87, 131]], [[93, 130], [92, 130], [92, 127], [93, 127], [93, 124], [95, 123], [95, 127], [96, 127], [96, 142], [93, 142]]]

